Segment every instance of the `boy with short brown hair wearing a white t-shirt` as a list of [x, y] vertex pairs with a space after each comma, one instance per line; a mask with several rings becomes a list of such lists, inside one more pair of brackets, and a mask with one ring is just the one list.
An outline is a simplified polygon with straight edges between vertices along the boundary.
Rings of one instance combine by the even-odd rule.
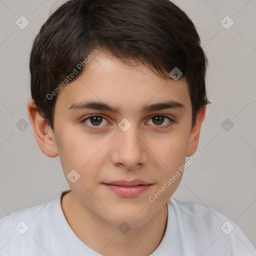
[[223, 214], [170, 198], [197, 148], [206, 64], [169, 0], [63, 3], [34, 40], [27, 108], [70, 189], [3, 218], [0, 255], [255, 255]]

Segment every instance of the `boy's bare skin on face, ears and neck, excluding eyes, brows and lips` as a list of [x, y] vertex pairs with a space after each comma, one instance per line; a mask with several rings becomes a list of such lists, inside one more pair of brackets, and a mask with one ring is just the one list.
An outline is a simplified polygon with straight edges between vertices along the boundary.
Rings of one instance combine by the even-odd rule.
[[[82, 100], [99, 100], [119, 113], [107, 110], [68, 109]], [[166, 108], [139, 112], [143, 104], [175, 100], [185, 108]], [[167, 201], [182, 175], [157, 198], [149, 201], [192, 155], [198, 145], [205, 107], [191, 127], [191, 101], [185, 78], [164, 79], [142, 64], [127, 65], [99, 51], [82, 74], [57, 94], [54, 133], [37, 111], [33, 101], [27, 104], [28, 117], [42, 152], [59, 155], [66, 175], [75, 169], [80, 178], [61, 199], [66, 220], [78, 238], [96, 252], [106, 255], [149, 255], [159, 245], [167, 223]], [[91, 114], [100, 114], [99, 126]], [[158, 121], [153, 115], [167, 115]], [[126, 118], [131, 127], [123, 131], [118, 123]], [[91, 121], [92, 122], [91, 122]], [[136, 197], [122, 197], [102, 182], [142, 179], [152, 185]], [[126, 233], [118, 226], [126, 221]]]

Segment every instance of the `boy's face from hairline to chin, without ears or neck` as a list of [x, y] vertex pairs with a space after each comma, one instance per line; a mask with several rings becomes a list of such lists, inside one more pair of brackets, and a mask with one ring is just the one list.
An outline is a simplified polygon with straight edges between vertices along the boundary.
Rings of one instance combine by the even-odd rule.
[[[173, 194], [182, 172], [167, 188], [166, 182], [196, 149], [189, 147], [191, 114], [185, 79], [163, 79], [101, 52], [92, 58], [58, 92], [54, 110], [54, 143], [83, 207], [115, 225], [150, 219]], [[75, 182], [67, 177], [71, 170]], [[106, 185], [134, 179], [149, 185]]]

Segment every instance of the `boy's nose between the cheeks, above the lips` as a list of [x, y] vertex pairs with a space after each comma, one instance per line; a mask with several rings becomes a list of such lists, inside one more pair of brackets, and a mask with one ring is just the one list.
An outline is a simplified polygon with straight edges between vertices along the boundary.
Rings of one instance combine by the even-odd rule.
[[111, 161], [114, 165], [124, 166], [127, 170], [144, 165], [148, 159], [145, 136], [131, 125], [126, 131], [118, 128], [114, 136]]

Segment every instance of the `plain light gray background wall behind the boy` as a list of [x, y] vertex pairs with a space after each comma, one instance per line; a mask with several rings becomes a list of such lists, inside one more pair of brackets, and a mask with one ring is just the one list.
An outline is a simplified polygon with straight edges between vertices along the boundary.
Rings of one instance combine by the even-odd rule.
[[[52, 4], [61, 2], [0, 0], [0, 218], [54, 199], [69, 188], [59, 158], [40, 151], [26, 108], [31, 44]], [[256, 1], [173, 2], [192, 19], [201, 37], [209, 61], [206, 83], [212, 102], [197, 148], [202, 154], [185, 170], [173, 196], [219, 210], [255, 246]], [[29, 21], [24, 29], [15, 24], [21, 15]], [[234, 21], [229, 29], [220, 23], [226, 15]], [[16, 126], [21, 118], [29, 123], [23, 131]], [[226, 123], [221, 126], [226, 118], [228, 130], [222, 127]]]

